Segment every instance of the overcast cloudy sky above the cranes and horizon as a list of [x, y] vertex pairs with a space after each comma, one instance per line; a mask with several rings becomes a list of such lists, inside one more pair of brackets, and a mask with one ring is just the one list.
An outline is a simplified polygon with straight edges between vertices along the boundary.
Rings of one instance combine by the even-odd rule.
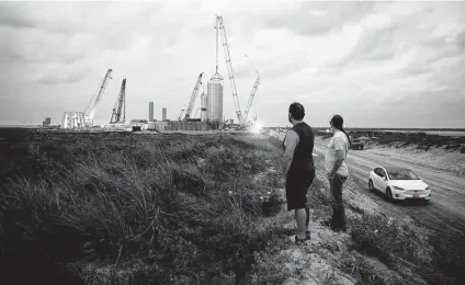
[[[83, 111], [109, 68], [95, 122], [110, 121], [123, 78], [126, 117], [175, 119], [200, 72], [215, 72], [224, 16], [240, 107], [287, 123], [288, 104], [327, 126], [465, 127], [465, 2], [0, 2], [0, 124], [59, 124]], [[222, 46], [220, 46], [222, 47]], [[224, 110], [236, 118], [224, 53]], [[197, 104], [200, 104], [200, 95]], [[195, 106], [196, 109], [197, 106]], [[195, 110], [194, 110], [195, 112]]]

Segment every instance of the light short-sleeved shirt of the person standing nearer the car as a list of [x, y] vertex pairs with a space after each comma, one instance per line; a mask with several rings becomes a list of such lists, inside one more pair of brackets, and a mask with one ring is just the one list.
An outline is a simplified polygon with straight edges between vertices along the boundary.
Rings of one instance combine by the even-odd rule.
[[342, 162], [338, 171], [336, 171], [336, 174], [339, 174], [341, 176], [349, 176], [349, 169], [345, 164], [345, 158], [349, 151], [349, 139], [345, 136], [345, 134], [340, 130], [336, 130], [334, 135], [329, 141], [328, 150], [326, 151], [325, 167], [326, 167], [327, 174], [330, 174], [330, 172], [332, 171], [332, 168], [334, 167], [336, 161], [338, 160], [338, 157], [336, 155], [337, 150], [343, 150], [344, 161]]

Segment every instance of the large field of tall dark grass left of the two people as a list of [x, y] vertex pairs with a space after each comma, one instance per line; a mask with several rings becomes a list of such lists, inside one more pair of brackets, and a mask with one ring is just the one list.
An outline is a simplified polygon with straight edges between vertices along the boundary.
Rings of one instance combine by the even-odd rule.
[[0, 277], [241, 282], [276, 231], [260, 200], [276, 185], [252, 176], [275, 161], [277, 141], [109, 136], [30, 138], [2, 158]]

